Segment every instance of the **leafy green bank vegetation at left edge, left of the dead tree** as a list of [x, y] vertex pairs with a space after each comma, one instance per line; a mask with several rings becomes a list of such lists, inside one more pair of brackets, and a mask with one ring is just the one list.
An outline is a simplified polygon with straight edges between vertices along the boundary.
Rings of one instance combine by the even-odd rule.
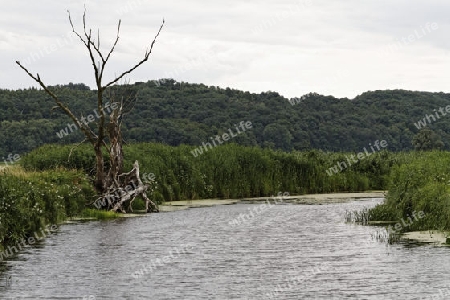
[[79, 171], [26, 173], [17, 167], [1, 171], [0, 245], [81, 213], [86, 199], [93, 197], [91, 183]]

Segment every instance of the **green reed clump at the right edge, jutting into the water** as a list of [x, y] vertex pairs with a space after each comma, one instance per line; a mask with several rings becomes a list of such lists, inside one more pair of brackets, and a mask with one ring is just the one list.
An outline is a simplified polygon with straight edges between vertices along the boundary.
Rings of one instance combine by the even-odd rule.
[[385, 202], [370, 211], [371, 220], [407, 220], [423, 211], [406, 231], [450, 230], [450, 153], [409, 153], [407, 163], [393, 167]]

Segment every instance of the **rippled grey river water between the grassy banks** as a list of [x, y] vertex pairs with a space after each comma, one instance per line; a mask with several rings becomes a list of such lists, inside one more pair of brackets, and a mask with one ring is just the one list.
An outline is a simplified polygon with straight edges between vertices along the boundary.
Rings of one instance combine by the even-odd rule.
[[63, 225], [1, 262], [0, 299], [450, 299], [449, 248], [388, 247], [380, 228], [344, 223], [380, 201], [273, 205], [241, 224], [259, 204]]

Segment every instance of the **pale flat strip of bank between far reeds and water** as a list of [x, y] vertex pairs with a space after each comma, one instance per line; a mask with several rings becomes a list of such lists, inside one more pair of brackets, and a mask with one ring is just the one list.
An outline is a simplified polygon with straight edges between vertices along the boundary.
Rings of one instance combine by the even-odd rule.
[[332, 193], [332, 194], [308, 194], [298, 196], [280, 196], [280, 197], [257, 197], [242, 199], [204, 199], [204, 200], [188, 200], [188, 201], [171, 201], [164, 202], [159, 205], [161, 212], [171, 212], [189, 208], [208, 207], [216, 205], [232, 205], [237, 203], [264, 203], [267, 201], [277, 201], [277, 203], [291, 203], [304, 205], [320, 205], [330, 203], [344, 203], [355, 199], [364, 198], [384, 198], [384, 191], [368, 191], [361, 193]]

